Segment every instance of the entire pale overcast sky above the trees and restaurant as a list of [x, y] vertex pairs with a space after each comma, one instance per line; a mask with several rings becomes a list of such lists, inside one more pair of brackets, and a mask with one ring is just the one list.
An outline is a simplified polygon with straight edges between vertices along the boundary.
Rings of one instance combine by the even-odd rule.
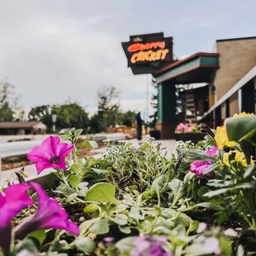
[[71, 98], [96, 111], [97, 90], [116, 86], [125, 110], [145, 110], [145, 75], [127, 69], [121, 41], [173, 36], [178, 58], [218, 39], [256, 36], [255, 0], [0, 0], [0, 79], [21, 105]]

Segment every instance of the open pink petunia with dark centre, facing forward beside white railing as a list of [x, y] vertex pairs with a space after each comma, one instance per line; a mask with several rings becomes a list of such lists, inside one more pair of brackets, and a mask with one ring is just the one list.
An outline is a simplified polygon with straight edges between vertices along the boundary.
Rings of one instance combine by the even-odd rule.
[[66, 170], [65, 156], [73, 149], [73, 145], [60, 142], [59, 137], [50, 136], [40, 146], [35, 146], [27, 158], [36, 163], [39, 174], [45, 168], [61, 168]]

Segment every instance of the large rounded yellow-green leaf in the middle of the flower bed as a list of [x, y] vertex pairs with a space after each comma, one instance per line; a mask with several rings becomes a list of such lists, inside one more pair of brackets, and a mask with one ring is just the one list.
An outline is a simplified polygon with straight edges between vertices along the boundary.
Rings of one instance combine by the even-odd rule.
[[116, 186], [111, 183], [97, 183], [89, 188], [86, 199], [88, 201], [108, 201], [113, 204], [119, 205], [115, 197]]

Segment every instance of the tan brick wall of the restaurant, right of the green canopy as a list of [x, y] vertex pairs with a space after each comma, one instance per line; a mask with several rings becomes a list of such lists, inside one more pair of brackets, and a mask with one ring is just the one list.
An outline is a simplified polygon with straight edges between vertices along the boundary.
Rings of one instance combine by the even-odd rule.
[[[215, 102], [256, 65], [256, 38], [217, 40], [220, 69], [216, 70]], [[230, 102], [230, 115], [238, 111], [237, 96]]]

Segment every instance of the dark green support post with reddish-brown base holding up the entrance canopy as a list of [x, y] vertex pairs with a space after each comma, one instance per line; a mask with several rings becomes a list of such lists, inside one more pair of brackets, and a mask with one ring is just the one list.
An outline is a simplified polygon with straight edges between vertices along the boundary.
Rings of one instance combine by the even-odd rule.
[[175, 139], [176, 88], [173, 81], [158, 85], [158, 122], [161, 140]]

